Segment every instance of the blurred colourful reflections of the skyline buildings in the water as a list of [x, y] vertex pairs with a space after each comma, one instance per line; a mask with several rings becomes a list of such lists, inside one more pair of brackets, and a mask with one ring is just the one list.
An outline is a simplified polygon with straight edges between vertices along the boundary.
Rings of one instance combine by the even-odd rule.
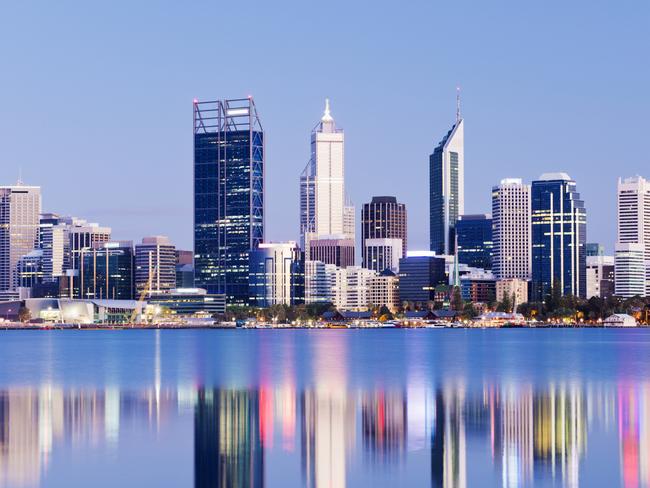
[[400, 472], [417, 453], [434, 487], [475, 485], [480, 460], [470, 455], [493, 466], [486, 485], [573, 487], [593, 428], [618, 439], [598, 447], [609, 452], [608, 463], [619, 460], [621, 485], [650, 484], [650, 383], [468, 388], [420, 378], [405, 390], [354, 389], [342, 374], [341, 347], [314, 350], [315, 381], [302, 389], [281, 376], [252, 388], [0, 390], [0, 486], [38, 486], [61, 462], [57, 449], [119, 449], [125, 429], [157, 432], [181, 416], [193, 419], [186, 435], [193, 436], [197, 487], [282, 485], [266, 478], [273, 450], [295, 462], [301, 486], [352, 485], [351, 474], [358, 484], [380, 465]]

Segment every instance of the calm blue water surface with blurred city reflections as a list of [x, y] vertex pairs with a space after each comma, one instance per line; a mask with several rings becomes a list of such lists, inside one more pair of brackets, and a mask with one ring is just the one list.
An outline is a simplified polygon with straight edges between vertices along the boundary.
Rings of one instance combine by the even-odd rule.
[[0, 333], [0, 486], [650, 483], [650, 330]]

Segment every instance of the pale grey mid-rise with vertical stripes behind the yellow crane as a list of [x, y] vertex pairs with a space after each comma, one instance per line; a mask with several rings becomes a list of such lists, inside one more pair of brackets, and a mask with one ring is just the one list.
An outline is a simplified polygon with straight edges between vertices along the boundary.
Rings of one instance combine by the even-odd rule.
[[139, 297], [176, 288], [176, 246], [165, 236], [142, 239], [135, 246], [135, 290]]

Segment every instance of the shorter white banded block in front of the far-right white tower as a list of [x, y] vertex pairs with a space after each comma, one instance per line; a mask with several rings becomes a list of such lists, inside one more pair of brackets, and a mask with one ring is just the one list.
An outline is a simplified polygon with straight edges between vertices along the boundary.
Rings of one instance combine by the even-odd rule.
[[616, 243], [614, 293], [617, 297], [643, 297], [645, 288], [645, 248], [637, 242]]

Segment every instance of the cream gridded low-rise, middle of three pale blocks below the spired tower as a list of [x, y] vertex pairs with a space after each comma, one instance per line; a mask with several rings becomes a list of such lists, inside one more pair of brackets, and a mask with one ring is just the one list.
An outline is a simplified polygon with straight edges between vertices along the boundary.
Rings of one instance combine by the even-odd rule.
[[361, 266], [337, 268], [334, 274], [333, 304], [337, 310], [365, 312], [370, 304], [369, 281], [377, 273]]

